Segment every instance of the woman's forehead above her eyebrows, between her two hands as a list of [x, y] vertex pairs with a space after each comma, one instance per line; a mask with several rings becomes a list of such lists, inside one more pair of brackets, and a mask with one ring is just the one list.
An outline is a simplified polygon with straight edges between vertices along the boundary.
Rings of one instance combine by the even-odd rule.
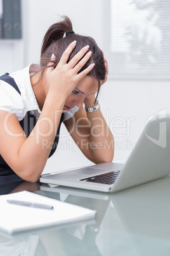
[[84, 76], [77, 83], [75, 90], [81, 91], [83, 94], [93, 94], [98, 91], [98, 80], [94, 76]]

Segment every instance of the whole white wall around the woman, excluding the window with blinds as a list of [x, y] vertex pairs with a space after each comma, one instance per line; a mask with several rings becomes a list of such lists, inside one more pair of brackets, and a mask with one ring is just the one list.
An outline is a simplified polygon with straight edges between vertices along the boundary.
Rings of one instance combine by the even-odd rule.
[[[104, 48], [102, 0], [22, 0], [22, 11], [23, 39], [8, 47], [0, 42], [1, 71], [38, 62], [44, 33], [60, 15], [68, 15], [75, 32], [92, 36]], [[161, 81], [108, 80], [103, 85], [101, 111], [115, 135], [115, 160], [128, 157], [148, 117], [164, 108], [170, 111], [169, 91], [169, 82]], [[90, 164], [75, 148], [70, 136], [63, 136], [66, 133], [62, 126], [60, 146], [48, 160], [44, 173]]]

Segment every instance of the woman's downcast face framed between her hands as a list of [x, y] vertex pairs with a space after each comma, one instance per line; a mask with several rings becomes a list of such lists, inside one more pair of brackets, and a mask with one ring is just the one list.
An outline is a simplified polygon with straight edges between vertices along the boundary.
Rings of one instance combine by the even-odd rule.
[[94, 76], [84, 76], [67, 97], [63, 110], [70, 110], [74, 106], [81, 108], [84, 99], [94, 99], [97, 91], [98, 80]]

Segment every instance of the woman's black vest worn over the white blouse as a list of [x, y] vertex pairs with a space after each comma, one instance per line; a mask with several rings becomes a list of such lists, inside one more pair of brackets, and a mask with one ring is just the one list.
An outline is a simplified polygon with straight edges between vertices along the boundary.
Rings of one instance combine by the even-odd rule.
[[[15, 80], [6, 73], [3, 76], [0, 76], [0, 80], [3, 80], [4, 82], [10, 84], [19, 94], [21, 94], [20, 90], [18, 89], [18, 86], [15, 83]], [[49, 154], [49, 157], [55, 153], [59, 134], [60, 134], [60, 126], [63, 122], [64, 114], [62, 113], [62, 117], [60, 118], [60, 124], [58, 125], [58, 130], [56, 132], [55, 141], [53, 143], [53, 147], [51, 149], [51, 152]], [[20, 121], [20, 125], [25, 132], [26, 136], [28, 137], [34, 126], [36, 125], [37, 118], [32, 115], [31, 111], [28, 111], [23, 120]], [[20, 180], [21, 178], [16, 175], [16, 173], [6, 164], [3, 157], [0, 155], [0, 184], [4, 182], [9, 182], [13, 180]]]

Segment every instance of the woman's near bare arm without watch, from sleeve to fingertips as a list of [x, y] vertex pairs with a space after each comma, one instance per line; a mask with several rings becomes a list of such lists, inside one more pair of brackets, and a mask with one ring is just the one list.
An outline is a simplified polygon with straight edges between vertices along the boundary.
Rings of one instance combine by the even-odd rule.
[[74, 47], [75, 42], [65, 50], [55, 69], [51, 67], [46, 70], [48, 95], [39, 120], [28, 138], [15, 115], [0, 111], [0, 153], [11, 169], [23, 180], [34, 182], [41, 176], [50, 153], [50, 147], [43, 147], [43, 141], [54, 141], [67, 96], [79, 80], [93, 69], [91, 64], [77, 74], [90, 57], [88, 53], [84, 56], [88, 51], [86, 47], [67, 64]]

